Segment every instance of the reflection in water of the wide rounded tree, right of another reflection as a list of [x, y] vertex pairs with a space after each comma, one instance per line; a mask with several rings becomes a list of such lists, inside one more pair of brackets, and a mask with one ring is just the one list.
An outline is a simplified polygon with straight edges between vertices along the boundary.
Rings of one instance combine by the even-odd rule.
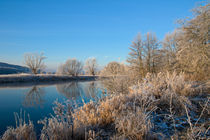
[[62, 93], [68, 99], [76, 99], [82, 93], [82, 86], [78, 82], [56, 85], [59, 93]]

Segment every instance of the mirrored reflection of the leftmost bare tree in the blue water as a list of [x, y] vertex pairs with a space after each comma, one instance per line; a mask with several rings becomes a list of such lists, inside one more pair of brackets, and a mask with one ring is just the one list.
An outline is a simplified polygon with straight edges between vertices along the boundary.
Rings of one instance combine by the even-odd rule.
[[33, 86], [25, 95], [23, 106], [34, 107], [44, 105], [44, 88], [39, 86]]

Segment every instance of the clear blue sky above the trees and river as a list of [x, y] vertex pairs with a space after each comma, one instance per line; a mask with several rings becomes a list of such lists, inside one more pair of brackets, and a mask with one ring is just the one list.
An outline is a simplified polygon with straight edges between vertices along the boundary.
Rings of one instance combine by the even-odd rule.
[[0, 62], [23, 65], [44, 52], [48, 68], [68, 58], [125, 61], [138, 32], [161, 40], [198, 0], [0, 0]]

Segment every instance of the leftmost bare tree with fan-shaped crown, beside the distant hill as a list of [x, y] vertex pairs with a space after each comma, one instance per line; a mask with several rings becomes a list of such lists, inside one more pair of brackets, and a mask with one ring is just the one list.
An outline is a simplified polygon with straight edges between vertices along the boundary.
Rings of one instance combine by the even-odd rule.
[[24, 63], [29, 67], [33, 74], [38, 74], [45, 68], [45, 59], [46, 57], [43, 53], [28, 53], [24, 56]]

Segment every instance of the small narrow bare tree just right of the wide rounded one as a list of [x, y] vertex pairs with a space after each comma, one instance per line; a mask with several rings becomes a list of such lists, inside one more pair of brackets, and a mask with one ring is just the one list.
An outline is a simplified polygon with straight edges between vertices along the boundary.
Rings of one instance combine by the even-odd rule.
[[85, 62], [85, 69], [88, 74], [95, 75], [97, 71], [97, 61], [96, 58], [88, 58]]

